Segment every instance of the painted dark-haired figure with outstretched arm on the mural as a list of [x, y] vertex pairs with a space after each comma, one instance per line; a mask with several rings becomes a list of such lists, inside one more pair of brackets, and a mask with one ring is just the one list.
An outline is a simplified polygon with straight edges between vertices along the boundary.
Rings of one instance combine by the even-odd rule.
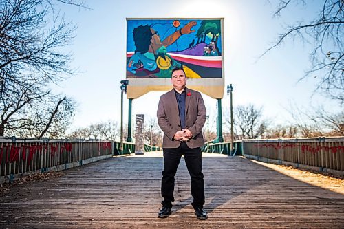
[[197, 25], [195, 21], [190, 21], [184, 27], [167, 36], [164, 41], [161, 41], [159, 32], [151, 28], [150, 25], [139, 25], [134, 28], [133, 41], [136, 50], [127, 64], [128, 71], [136, 76], [154, 74], [158, 78], [169, 78], [174, 67], [183, 67], [189, 78], [200, 78], [192, 69], [175, 61], [167, 54], [166, 50], [180, 36], [195, 32], [192, 30], [195, 25]]

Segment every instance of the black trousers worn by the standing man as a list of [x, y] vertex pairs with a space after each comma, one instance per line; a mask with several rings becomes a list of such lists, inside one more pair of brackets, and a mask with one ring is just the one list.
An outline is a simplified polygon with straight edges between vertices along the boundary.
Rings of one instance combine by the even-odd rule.
[[174, 201], [173, 191], [175, 184], [175, 173], [184, 155], [186, 167], [191, 177], [191, 195], [193, 196], [193, 208], [204, 205], [204, 180], [202, 173], [202, 151], [199, 148], [191, 149], [185, 142], [178, 148], [165, 148], [164, 151], [164, 171], [162, 171], [161, 195], [164, 198], [163, 206], [172, 207]]

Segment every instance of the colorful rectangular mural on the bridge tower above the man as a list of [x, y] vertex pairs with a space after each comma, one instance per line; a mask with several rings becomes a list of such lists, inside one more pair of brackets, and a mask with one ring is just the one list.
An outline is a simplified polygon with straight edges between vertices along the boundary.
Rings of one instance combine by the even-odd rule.
[[222, 19], [127, 19], [127, 78], [223, 78]]

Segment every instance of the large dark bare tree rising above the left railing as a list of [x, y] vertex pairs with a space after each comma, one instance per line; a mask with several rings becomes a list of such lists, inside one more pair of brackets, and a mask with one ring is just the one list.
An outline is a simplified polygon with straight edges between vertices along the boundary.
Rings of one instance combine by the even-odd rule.
[[[76, 1], [62, 3], [82, 6]], [[0, 3], [0, 136], [59, 136], [75, 104], [47, 90], [75, 71], [69, 45], [76, 27], [54, 12], [50, 0]]]

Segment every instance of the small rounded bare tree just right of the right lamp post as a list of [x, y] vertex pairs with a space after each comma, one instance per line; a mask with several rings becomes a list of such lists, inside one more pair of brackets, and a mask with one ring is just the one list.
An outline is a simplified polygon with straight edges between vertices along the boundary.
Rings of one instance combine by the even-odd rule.
[[268, 121], [262, 118], [262, 107], [250, 104], [239, 105], [234, 109], [235, 133], [239, 138], [258, 138], [266, 131]]

